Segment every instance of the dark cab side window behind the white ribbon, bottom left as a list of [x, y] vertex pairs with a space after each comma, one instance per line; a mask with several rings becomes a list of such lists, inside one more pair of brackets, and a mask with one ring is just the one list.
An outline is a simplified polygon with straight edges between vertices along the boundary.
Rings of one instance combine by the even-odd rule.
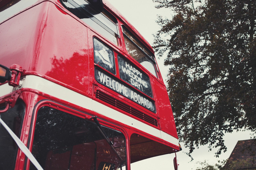
[[[3, 108], [0, 108], [3, 109]], [[1, 119], [13, 130], [13, 132], [20, 137], [20, 130], [22, 127], [25, 107], [22, 102], [16, 102], [13, 108], [8, 109], [5, 113], [1, 113]], [[0, 124], [0, 169], [13, 170], [15, 166], [16, 154], [18, 146], [7, 132], [7, 130]]]

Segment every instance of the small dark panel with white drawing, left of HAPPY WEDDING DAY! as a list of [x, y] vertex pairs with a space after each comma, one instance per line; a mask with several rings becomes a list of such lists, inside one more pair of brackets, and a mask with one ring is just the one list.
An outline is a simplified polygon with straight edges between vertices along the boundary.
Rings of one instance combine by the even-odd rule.
[[113, 51], [102, 42], [93, 38], [94, 62], [107, 71], [115, 74], [115, 57]]

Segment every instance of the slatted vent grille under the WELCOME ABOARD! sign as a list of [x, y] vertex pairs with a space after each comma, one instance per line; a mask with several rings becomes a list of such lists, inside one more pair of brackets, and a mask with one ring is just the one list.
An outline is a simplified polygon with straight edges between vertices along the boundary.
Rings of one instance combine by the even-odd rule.
[[97, 90], [96, 92], [96, 98], [108, 103], [108, 104], [111, 104], [113, 105], [114, 107], [116, 108], [119, 108], [121, 110], [124, 110], [125, 112], [131, 114], [131, 115], [134, 115], [135, 117], [141, 119], [141, 120], [144, 120], [145, 122], [148, 122], [154, 126], [158, 126], [158, 123], [157, 123], [157, 120], [153, 117], [150, 117], [149, 115], [146, 115], [144, 113], [141, 113], [139, 110], [129, 106], [128, 104], [125, 104], [111, 96], [109, 96], [108, 94], [106, 93], [103, 93], [99, 90]]

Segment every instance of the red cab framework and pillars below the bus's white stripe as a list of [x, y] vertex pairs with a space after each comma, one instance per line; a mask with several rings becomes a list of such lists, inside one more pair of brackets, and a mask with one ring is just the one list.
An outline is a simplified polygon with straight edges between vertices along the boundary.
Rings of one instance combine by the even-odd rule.
[[[52, 108], [56, 108], [58, 110], [62, 110], [64, 112], [67, 112], [69, 114], [77, 115], [78, 117], [82, 117], [85, 119], [90, 119], [93, 115], [97, 115], [99, 118], [101, 118], [99, 121], [102, 125], [105, 125], [107, 127], [120, 130], [126, 137], [126, 143], [127, 143], [127, 162], [130, 162], [129, 157], [129, 147], [130, 147], [130, 136], [132, 134], [139, 134], [142, 136], [147, 136], [147, 138], [157, 141], [161, 144], [170, 146], [174, 149], [178, 149], [177, 146], [166, 143], [166, 141], [163, 141], [161, 139], [156, 139], [155, 136], [149, 135], [144, 132], [138, 132], [138, 130], [134, 127], [127, 126], [125, 124], [122, 124], [120, 122], [117, 122], [113, 119], [110, 119], [108, 117], [102, 116], [96, 112], [92, 112], [91, 110], [88, 110], [86, 108], [77, 107], [77, 105], [68, 103], [67, 101], [63, 101], [61, 99], [52, 97], [47, 94], [43, 94], [42, 92], [35, 91], [33, 89], [29, 88], [22, 88], [18, 92], [15, 91], [6, 98], [10, 98], [11, 96], [17, 96], [19, 94], [19, 98], [22, 99], [26, 105], [26, 112], [24, 117], [24, 123], [22, 127], [22, 134], [21, 134], [21, 140], [25, 145], [29, 145], [29, 149], [32, 150], [32, 142], [33, 142], [33, 132], [35, 127], [35, 121], [36, 121], [36, 113], [37, 110], [43, 106], [50, 106]], [[4, 99], [4, 98], [3, 98]], [[66, 105], [66, 106], [65, 106]], [[68, 106], [68, 107], [67, 107]], [[128, 137], [129, 136], [129, 137]], [[17, 162], [16, 162], [16, 169], [23, 169], [24, 165], [26, 165], [26, 170], [29, 169], [29, 161], [26, 160], [25, 155], [21, 152], [21, 150], [18, 151], [17, 156]], [[130, 165], [127, 164], [127, 168], [130, 169]]]

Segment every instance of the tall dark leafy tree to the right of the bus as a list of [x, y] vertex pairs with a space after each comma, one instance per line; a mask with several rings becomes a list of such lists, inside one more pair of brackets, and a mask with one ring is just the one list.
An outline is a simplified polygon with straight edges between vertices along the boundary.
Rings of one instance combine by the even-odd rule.
[[168, 92], [180, 140], [226, 151], [224, 133], [256, 131], [256, 1], [154, 0], [158, 56], [167, 56]]

